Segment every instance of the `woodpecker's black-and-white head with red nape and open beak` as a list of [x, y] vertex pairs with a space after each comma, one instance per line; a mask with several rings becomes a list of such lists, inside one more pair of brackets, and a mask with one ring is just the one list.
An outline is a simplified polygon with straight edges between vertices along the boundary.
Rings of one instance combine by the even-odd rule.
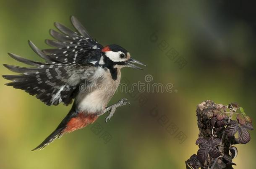
[[119, 45], [107, 45], [101, 51], [103, 57], [100, 58], [99, 65], [104, 65], [107, 68], [131, 67], [143, 70], [132, 63], [146, 66], [140, 61], [131, 58], [130, 53]]

